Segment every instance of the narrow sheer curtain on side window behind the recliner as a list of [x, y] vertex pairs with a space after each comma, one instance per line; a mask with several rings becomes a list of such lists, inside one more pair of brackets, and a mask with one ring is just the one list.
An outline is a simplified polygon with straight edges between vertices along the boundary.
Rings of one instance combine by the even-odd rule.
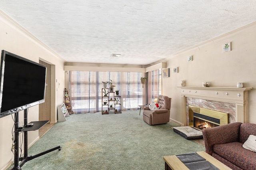
[[148, 79], [146, 88], [146, 103], [150, 103], [154, 101], [158, 95], [162, 94], [162, 70], [156, 69], [146, 73], [146, 77]]

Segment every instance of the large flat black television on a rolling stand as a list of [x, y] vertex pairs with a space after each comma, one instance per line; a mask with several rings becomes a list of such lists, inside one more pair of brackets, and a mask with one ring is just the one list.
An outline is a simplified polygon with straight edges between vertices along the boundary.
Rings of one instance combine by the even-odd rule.
[[2, 50], [0, 73], [0, 118], [44, 103], [44, 65]]

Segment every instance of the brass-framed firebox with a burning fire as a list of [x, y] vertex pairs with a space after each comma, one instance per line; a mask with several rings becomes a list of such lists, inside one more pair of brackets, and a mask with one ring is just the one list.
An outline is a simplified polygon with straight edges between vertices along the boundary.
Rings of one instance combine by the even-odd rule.
[[228, 113], [189, 106], [189, 126], [197, 130], [228, 124]]

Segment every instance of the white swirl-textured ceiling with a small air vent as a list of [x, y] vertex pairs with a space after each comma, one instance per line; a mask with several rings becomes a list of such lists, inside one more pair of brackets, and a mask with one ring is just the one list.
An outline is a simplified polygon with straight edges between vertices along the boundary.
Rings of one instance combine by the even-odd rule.
[[147, 65], [256, 21], [256, 0], [0, 0], [0, 9], [82, 63]]

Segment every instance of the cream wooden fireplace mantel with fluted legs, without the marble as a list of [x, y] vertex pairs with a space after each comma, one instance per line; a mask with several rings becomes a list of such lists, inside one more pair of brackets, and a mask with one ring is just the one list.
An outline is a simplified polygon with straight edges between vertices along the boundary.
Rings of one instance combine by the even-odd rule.
[[247, 123], [248, 91], [252, 87], [180, 87], [182, 97], [182, 119], [187, 125], [186, 98], [205, 99], [236, 104], [236, 122]]

